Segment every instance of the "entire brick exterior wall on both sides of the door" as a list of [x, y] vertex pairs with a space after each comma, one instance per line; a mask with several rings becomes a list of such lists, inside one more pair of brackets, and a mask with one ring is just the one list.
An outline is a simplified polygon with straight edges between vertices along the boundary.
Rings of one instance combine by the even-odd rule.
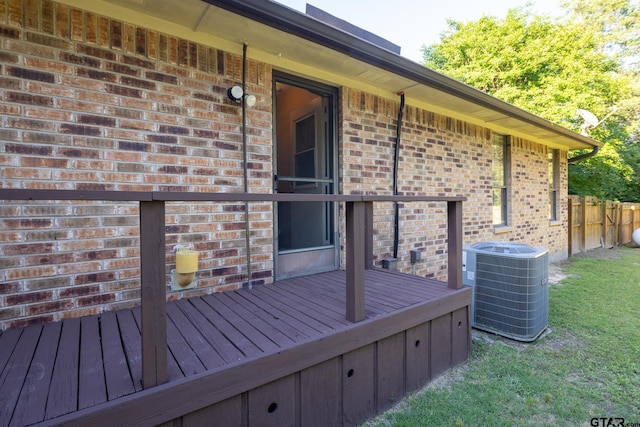
[[[249, 59], [246, 69], [258, 98], [247, 109], [249, 192], [270, 192], [271, 67]], [[240, 107], [226, 96], [241, 78], [241, 57], [215, 47], [49, 0], [0, 0], [0, 185], [243, 191]], [[398, 108], [397, 99], [340, 89], [340, 193], [392, 193]], [[465, 244], [516, 240], [566, 251], [566, 152], [559, 225], [550, 227], [546, 147], [514, 138], [511, 150], [510, 227], [494, 234], [491, 132], [408, 105], [400, 194], [467, 197]], [[244, 215], [237, 203], [168, 204], [168, 270], [176, 244], [199, 251], [200, 270], [196, 290], [167, 298], [246, 282]], [[439, 204], [402, 206], [401, 270], [411, 270], [416, 248], [416, 273], [446, 278], [445, 218]], [[271, 204], [250, 204], [249, 220], [253, 279], [269, 283]], [[0, 328], [137, 305], [138, 222], [135, 203], [0, 201]], [[380, 205], [376, 259], [392, 247], [393, 206]]]

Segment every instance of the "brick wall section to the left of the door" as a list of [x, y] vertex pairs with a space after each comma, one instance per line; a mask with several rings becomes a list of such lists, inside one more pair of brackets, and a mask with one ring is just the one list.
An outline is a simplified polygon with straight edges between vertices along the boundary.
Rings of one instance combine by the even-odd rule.
[[[0, 0], [3, 188], [243, 190], [242, 60], [47, 0]], [[248, 61], [249, 191], [271, 183], [270, 68]], [[272, 276], [270, 205], [251, 204], [252, 271]], [[3, 329], [138, 304], [135, 203], [0, 204]], [[200, 252], [198, 290], [247, 280], [244, 206], [168, 204], [172, 248]], [[168, 273], [168, 272], [167, 272]], [[169, 279], [167, 280], [169, 283]]]

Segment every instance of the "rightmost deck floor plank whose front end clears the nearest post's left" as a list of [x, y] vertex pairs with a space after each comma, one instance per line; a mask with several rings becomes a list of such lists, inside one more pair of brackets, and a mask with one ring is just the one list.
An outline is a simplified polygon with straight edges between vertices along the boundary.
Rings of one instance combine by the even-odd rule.
[[103, 313], [100, 319], [104, 374], [109, 400], [135, 392], [125, 356], [115, 312]]

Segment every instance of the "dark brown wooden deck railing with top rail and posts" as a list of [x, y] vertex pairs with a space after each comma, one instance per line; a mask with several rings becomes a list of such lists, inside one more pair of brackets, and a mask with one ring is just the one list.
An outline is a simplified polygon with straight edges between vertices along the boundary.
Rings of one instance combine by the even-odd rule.
[[[127, 201], [140, 205], [142, 381], [145, 388], [168, 381], [165, 203], [166, 202], [338, 202], [346, 212], [346, 318], [365, 318], [365, 270], [373, 268], [375, 202], [447, 204], [448, 286], [462, 287], [463, 197], [254, 194], [0, 189], [0, 200]], [[249, 278], [250, 280], [251, 278]]]

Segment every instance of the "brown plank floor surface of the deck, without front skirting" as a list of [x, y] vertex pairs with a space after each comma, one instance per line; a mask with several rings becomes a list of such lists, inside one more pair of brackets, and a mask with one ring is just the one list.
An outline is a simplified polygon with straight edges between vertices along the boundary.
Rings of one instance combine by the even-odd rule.
[[[367, 270], [365, 279], [367, 321], [456, 292], [436, 280], [387, 270]], [[208, 371], [233, 372], [245, 361], [273, 360], [334, 334], [351, 337], [349, 331], [360, 323], [345, 318], [345, 280], [344, 271], [335, 271], [168, 303], [169, 382]], [[140, 313], [140, 308], [106, 312], [2, 333], [0, 427], [86, 412], [140, 392]], [[312, 357], [336, 351], [312, 347], [317, 348]]]

